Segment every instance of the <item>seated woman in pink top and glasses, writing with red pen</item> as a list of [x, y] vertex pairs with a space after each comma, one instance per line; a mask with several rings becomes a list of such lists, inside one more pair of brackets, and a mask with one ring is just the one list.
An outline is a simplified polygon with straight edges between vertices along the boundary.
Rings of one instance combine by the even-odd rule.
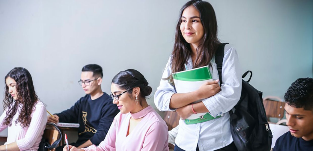
[[[75, 150], [105, 151], [168, 151], [168, 131], [165, 121], [148, 105], [146, 96], [152, 88], [145, 77], [134, 69], [119, 72], [111, 84], [113, 104], [121, 110], [99, 146]], [[63, 148], [67, 151], [67, 146]]]

